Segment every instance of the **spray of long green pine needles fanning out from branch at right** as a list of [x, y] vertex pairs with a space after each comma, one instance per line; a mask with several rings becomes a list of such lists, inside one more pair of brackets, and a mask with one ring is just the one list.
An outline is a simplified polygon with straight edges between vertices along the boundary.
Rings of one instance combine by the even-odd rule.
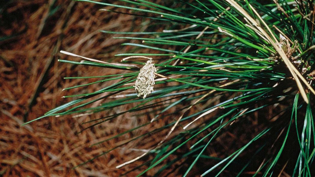
[[[126, 168], [125, 174], [136, 170], [139, 176], [314, 176], [314, 1], [78, 1], [103, 5], [104, 13], [124, 14], [127, 9], [130, 15], [150, 20], [146, 31], [101, 32], [120, 34], [116, 38], [134, 41], [122, 45], [150, 51], [116, 56], [147, 56], [155, 64], [151, 59], [146, 64], [60, 60], [129, 72], [103, 76], [109, 79], [101, 81], [117, 82], [92, 93], [65, 96], [78, 98], [38, 119], [109, 113], [88, 121], [90, 128], [106, 126], [126, 113], [137, 119], [153, 116], [145, 124], [91, 145], [112, 139], [122, 142], [97, 158], [135, 142], [132, 149], [145, 153], [129, 157], [131, 153], [117, 166]], [[115, 11], [107, 10], [109, 6]], [[143, 65], [147, 69], [140, 69]], [[142, 75], [141, 81], [139, 71], [150, 76]], [[134, 85], [137, 93], [130, 92]], [[99, 100], [105, 101], [88, 107]], [[131, 108], [109, 111], [126, 105]], [[164, 125], [152, 126], [160, 121]], [[133, 133], [144, 127], [151, 128], [142, 135]], [[123, 141], [125, 134], [133, 136]], [[148, 147], [152, 141], [155, 145]], [[135, 165], [137, 160], [143, 165]]]

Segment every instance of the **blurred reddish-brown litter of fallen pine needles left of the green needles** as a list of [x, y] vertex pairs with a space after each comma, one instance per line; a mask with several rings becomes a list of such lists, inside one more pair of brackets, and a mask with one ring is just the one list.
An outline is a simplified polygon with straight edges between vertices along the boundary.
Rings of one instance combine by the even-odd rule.
[[[143, 153], [117, 148], [91, 163], [72, 169], [110, 147], [128, 142], [132, 135], [126, 134], [123, 139], [107, 141], [99, 146], [89, 145], [147, 122], [147, 119], [134, 119], [127, 114], [124, 119], [117, 117], [106, 125], [95, 126], [78, 135], [76, 132], [83, 129], [80, 123], [101, 118], [109, 112], [80, 117], [49, 117], [20, 126], [73, 100], [62, 96], [96, 91], [115, 82], [62, 91], [66, 87], [98, 80], [64, 77], [122, 72], [57, 62], [58, 59], [80, 61], [80, 58], [66, 56], [60, 50], [106, 62], [119, 62], [122, 58], [114, 55], [131, 49], [120, 45], [126, 42], [123, 39], [112, 39], [117, 35], [100, 30], [145, 31], [150, 27], [147, 19], [100, 11], [100, 8], [102, 6], [93, 3], [63, 0], [0, 1], [0, 176], [118, 176], [142, 164], [137, 161], [116, 169], [115, 166], [126, 159]], [[157, 26], [154, 28], [159, 30]], [[100, 102], [91, 106], [95, 107]], [[134, 133], [140, 135], [141, 131]], [[161, 133], [165, 135], [165, 132], [167, 130]], [[158, 134], [151, 135], [152, 139], [155, 136]], [[160, 140], [152, 139], [133, 143], [142, 141], [147, 147], [152, 147]], [[127, 143], [125, 148], [133, 143]], [[125, 158], [129, 154], [131, 157]], [[139, 170], [143, 169], [135, 169], [128, 175], [135, 176]]]

